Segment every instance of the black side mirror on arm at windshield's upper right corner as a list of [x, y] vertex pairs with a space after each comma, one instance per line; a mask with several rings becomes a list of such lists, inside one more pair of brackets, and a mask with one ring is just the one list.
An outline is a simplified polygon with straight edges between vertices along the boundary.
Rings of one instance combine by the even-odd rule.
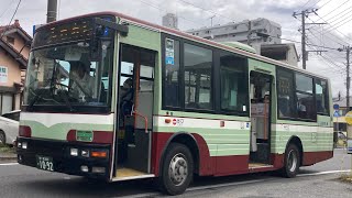
[[92, 61], [99, 61], [101, 57], [101, 40], [108, 37], [110, 30], [119, 32], [122, 36], [127, 36], [129, 33], [129, 26], [125, 24], [118, 24], [100, 18], [92, 19], [92, 31], [89, 45], [89, 54]]

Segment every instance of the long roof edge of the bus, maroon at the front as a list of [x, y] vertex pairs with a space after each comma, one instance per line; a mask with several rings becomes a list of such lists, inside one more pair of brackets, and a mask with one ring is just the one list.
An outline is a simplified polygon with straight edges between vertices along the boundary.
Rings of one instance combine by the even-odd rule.
[[258, 54], [254, 54], [250, 50], [250, 48], [252, 48], [251, 46], [248, 46], [248, 48], [245, 48], [243, 46], [241, 46], [241, 47], [229, 46], [229, 45], [227, 45], [224, 43], [218, 43], [218, 42], [213, 42], [213, 41], [210, 41], [210, 40], [206, 40], [206, 38], [202, 38], [202, 37], [199, 37], [199, 36], [191, 35], [191, 34], [186, 33], [186, 32], [182, 32], [182, 31], [169, 29], [169, 28], [162, 26], [162, 25], [158, 25], [158, 24], [150, 23], [147, 21], [140, 20], [140, 19], [136, 19], [136, 18], [132, 18], [132, 16], [129, 16], [129, 15], [125, 15], [125, 14], [122, 14], [122, 13], [119, 13], [119, 12], [110, 12], [110, 11], [107, 11], [107, 12], [95, 12], [95, 13], [90, 13], [90, 14], [84, 14], [84, 15], [78, 15], [78, 16], [74, 16], [74, 18], [67, 18], [67, 19], [64, 19], [64, 20], [61, 20], [61, 21], [55, 21], [55, 22], [47, 23], [47, 24], [38, 28], [37, 30], [41, 30], [41, 29], [47, 28], [47, 26], [57, 25], [57, 24], [61, 24], [61, 23], [66, 23], [66, 22], [69, 22], [72, 20], [77, 20], [77, 19], [80, 19], [80, 18], [91, 18], [91, 16], [99, 16], [99, 15], [113, 15], [113, 16], [119, 18], [122, 21], [127, 21], [127, 22], [130, 22], [130, 23], [138, 23], [140, 25], [144, 25], [144, 26], [147, 26], [147, 28], [155, 29], [156, 31], [160, 31], [160, 32], [164, 32], [164, 33], [176, 35], [176, 36], [179, 36], [179, 37], [193, 40], [193, 41], [196, 41], [196, 42], [201, 42], [201, 43], [205, 43], [207, 45], [211, 45], [211, 46], [215, 46], [215, 47], [218, 47], [218, 48], [222, 48], [222, 50], [226, 50], [226, 51], [229, 51], [229, 52], [242, 54], [242, 55], [245, 55], [248, 57], [251, 57], [251, 58], [254, 58], [254, 59], [257, 59], [257, 61], [262, 61], [262, 62], [265, 62], [265, 63], [268, 63], [268, 64], [273, 64], [273, 65], [276, 65], [276, 66], [282, 66], [282, 67], [285, 67], [285, 68], [288, 68], [288, 69], [292, 69], [292, 70], [297, 70], [297, 72], [300, 72], [300, 73], [304, 73], [304, 74], [307, 74], [307, 75], [311, 75], [311, 76], [320, 77], [320, 78], [323, 78], [323, 79], [328, 79], [327, 77], [323, 77], [323, 76], [320, 76], [320, 75], [316, 75], [314, 73], [304, 70], [304, 69], [295, 67], [293, 65], [289, 65], [289, 64], [286, 64], [286, 63], [283, 63], [283, 62], [278, 62], [278, 61], [265, 57], [265, 56], [261, 56]]

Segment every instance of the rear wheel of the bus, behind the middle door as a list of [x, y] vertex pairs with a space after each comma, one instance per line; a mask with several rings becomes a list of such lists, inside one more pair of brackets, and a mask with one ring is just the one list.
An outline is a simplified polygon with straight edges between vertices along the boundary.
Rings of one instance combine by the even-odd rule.
[[295, 144], [289, 144], [285, 152], [282, 175], [287, 178], [296, 177], [300, 166], [300, 153]]

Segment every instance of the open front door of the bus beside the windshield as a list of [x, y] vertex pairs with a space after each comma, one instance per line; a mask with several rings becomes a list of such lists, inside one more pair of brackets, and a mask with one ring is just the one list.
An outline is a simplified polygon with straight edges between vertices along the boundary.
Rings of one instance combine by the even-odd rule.
[[156, 53], [121, 44], [116, 178], [151, 172], [154, 67]]

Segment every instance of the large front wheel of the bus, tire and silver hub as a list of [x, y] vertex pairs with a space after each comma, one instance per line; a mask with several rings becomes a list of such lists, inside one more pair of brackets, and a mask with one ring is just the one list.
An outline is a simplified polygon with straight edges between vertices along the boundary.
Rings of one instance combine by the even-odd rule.
[[194, 160], [187, 146], [170, 143], [161, 167], [158, 184], [168, 195], [183, 194], [194, 176]]

